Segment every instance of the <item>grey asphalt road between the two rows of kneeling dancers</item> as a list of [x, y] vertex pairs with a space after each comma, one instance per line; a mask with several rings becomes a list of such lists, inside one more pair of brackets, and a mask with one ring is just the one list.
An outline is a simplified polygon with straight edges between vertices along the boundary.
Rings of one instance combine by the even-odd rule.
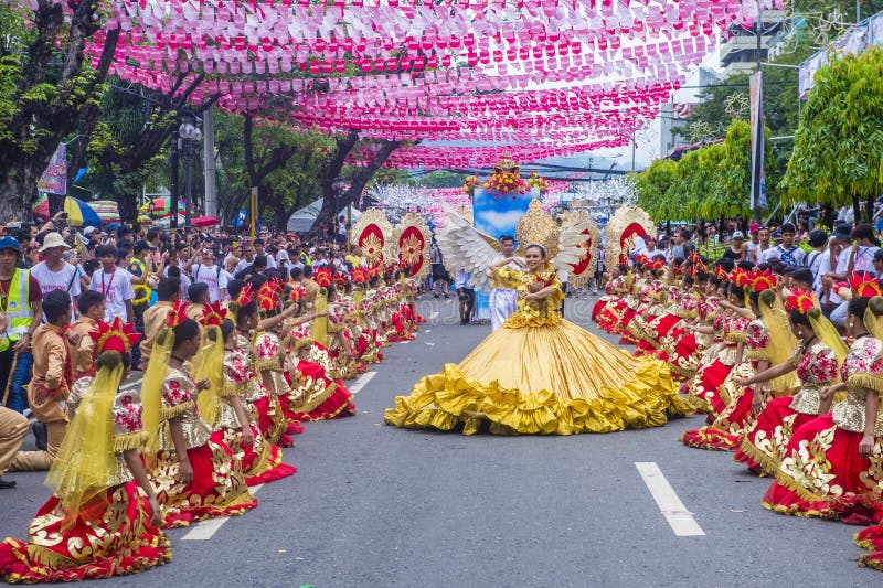
[[[585, 324], [594, 298], [568, 299]], [[768, 480], [666, 427], [574, 437], [464, 437], [382, 425], [421, 375], [458, 362], [489, 327], [454, 300], [422, 302], [418, 339], [389, 348], [352, 418], [307, 424], [292, 478], [220, 527], [173, 530], [174, 560], [95, 586], [879, 586], [859, 568], [859, 528], [765, 511]], [[365, 377], [365, 376], [363, 376]], [[353, 385], [360, 381], [353, 381]], [[677, 536], [636, 463], [656, 463], [702, 535]], [[0, 533], [22, 537], [46, 499], [39, 473], [9, 474]], [[671, 510], [671, 507], [667, 507]], [[671, 514], [671, 513], [669, 513]], [[675, 518], [678, 513], [674, 513]], [[690, 518], [681, 513], [681, 518]], [[213, 525], [216, 525], [214, 523]], [[189, 533], [202, 539], [185, 539]], [[193, 536], [192, 534], [190, 535]]]

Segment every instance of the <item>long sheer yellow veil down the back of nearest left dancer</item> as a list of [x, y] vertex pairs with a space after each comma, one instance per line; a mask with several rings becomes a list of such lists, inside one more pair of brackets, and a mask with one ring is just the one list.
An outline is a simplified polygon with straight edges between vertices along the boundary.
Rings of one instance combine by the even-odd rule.
[[83, 506], [110, 487], [117, 467], [110, 408], [124, 370], [118, 353], [115, 359], [100, 365], [92, 379], [44, 482], [61, 501], [63, 528], [70, 528]]

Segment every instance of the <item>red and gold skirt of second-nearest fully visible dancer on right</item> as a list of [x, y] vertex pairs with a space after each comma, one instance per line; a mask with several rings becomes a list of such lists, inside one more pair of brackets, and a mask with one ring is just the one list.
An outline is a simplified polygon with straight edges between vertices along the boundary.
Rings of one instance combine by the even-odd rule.
[[733, 459], [758, 473], [775, 475], [794, 431], [817, 416], [795, 411], [792, 400], [792, 396], [781, 396], [766, 403], [754, 425], [745, 431]]

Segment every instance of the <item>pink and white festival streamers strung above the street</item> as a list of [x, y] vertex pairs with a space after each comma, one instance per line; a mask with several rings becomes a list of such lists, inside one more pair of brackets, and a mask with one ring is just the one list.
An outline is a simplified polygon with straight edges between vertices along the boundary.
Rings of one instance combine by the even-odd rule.
[[194, 103], [217, 96], [223, 108], [294, 129], [496, 146], [421, 145], [391, 158], [402, 168], [468, 168], [492, 163], [501, 146], [528, 162], [627, 145], [719, 34], [751, 26], [758, 10], [780, 2], [109, 0], [107, 8], [88, 52], [97, 61], [106, 31], [120, 29], [110, 72], [125, 81], [169, 92], [180, 76], [199, 75]]

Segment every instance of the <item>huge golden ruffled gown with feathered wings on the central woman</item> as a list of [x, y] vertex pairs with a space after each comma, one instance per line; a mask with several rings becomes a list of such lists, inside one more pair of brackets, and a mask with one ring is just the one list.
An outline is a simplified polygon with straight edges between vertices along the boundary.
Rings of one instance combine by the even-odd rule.
[[[634, 357], [576, 324], [557, 309], [564, 296], [556, 269], [572, 269], [588, 255], [578, 216], [562, 227], [533, 201], [515, 232], [522, 244], [545, 248], [547, 265], [534, 270], [501, 267], [494, 240], [453, 211], [437, 234], [451, 263], [474, 269], [476, 287], [494, 284], [518, 290], [518, 309], [459, 364], [423, 377], [409, 396], [385, 411], [387, 425], [471, 435], [489, 424], [494, 434], [571, 435], [657, 427], [689, 414], [668, 366]], [[480, 268], [480, 269], [479, 269]], [[541, 282], [541, 284], [538, 284]], [[538, 286], [557, 291], [543, 299], [525, 295]]]

